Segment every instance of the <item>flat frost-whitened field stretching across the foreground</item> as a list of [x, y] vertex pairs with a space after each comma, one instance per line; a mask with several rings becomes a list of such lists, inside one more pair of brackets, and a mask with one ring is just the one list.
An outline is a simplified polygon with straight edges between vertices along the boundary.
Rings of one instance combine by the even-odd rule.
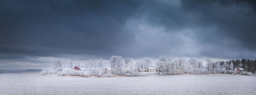
[[227, 74], [84, 78], [0, 74], [0, 94], [256, 94], [256, 77]]

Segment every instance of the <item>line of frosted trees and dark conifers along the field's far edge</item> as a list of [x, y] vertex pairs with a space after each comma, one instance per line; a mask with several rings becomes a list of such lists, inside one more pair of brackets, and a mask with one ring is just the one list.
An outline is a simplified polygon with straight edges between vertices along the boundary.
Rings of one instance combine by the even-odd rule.
[[[209, 74], [209, 73], [222, 73], [222, 71], [227, 68], [228, 70], [236, 70], [236, 67], [243, 68], [247, 72], [255, 73], [256, 70], [256, 60], [250, 59], [236, 59], [230, 61], [217, 61], [212, 62], [211, 59], [207, 58], [205, 66], [202, 61], [197, 60], [196, 58], [179, 58], [172, 59], [170, 57], [161, 56], [156, 62], [156, 72], [158, 74]], [[86, 63], [86, 70], [91, 73], [102, 73], [102, 58], [99, 60], [89, 59]], [[144, 71], [147, 72], [148, 68], [153, 66], [152, 59], [144, 58], [134, 61], [132, 58], [122, 58], [121, 56], [112, 56], [109, 59], [110, 64], [110, 73], [116, 75], [124, 75], [124, 74], [133, 74], [136, 71]], [[67, 59], [67, 69], [71, 69], [73, 67], [73, 62], [69, 58]], [[78, 63], [78, 68], [80, 68], [80, 64]], [[224, 68], [224, 69], [223, 69]], [[62, 62], [58, 59], [52, 61], [51, 65], [52, 71], [57, 73], [58, 71], [62, 71]], [[206, 69], [206, 70], [204, 70]], [[219, 70], [219, 71], [218, 71]]]

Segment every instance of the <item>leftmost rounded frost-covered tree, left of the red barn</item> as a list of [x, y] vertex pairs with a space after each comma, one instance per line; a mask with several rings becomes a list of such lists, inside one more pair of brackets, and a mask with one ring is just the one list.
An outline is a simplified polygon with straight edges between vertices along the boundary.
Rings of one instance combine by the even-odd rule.
[[62, 64], [63, 62], [61, 62], [59, 59], [52, 60], [52, 65], [51, 65], [52, 72], [57, 74], [57, 72], [62, 71]]

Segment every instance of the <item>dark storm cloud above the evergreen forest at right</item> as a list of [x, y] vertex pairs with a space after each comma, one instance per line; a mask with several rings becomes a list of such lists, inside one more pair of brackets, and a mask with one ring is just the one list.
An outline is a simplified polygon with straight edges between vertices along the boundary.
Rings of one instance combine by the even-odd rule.
[[[183, 10], [196, 15], [202, 44], [210, 44], [201, 54], [210, 57], [244, 58], [255, 52], [256, 14], [253, 1], [198, 1], [182, 2]], [[209, 30], [215, 28], [214, 30]], [[217, 52], [216, 52], [217, 51]], [[232, 55], [238, 52], [238, 56]], [[224, 54], [223, 54], [224, 53]], [[249, 58], [255, 58], [252, 54]]]

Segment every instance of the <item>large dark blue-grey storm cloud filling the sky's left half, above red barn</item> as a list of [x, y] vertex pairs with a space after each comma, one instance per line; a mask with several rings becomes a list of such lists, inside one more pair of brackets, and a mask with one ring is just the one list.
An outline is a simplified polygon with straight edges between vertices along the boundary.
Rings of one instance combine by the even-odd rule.
[[134, 35], [123, 25], [137, 6], [130, 1], [1, 1], [1, 53], [114, 52], [132, 42]]

